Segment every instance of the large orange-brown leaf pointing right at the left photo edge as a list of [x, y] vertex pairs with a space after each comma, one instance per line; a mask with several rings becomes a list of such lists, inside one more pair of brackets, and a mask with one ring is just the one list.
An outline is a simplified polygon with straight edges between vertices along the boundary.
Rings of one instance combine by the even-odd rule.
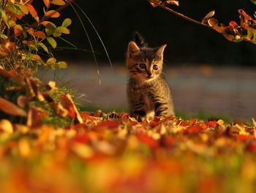
[[12, 116], [26, 116], [26, 111], [0, 97], [0, 110]]

